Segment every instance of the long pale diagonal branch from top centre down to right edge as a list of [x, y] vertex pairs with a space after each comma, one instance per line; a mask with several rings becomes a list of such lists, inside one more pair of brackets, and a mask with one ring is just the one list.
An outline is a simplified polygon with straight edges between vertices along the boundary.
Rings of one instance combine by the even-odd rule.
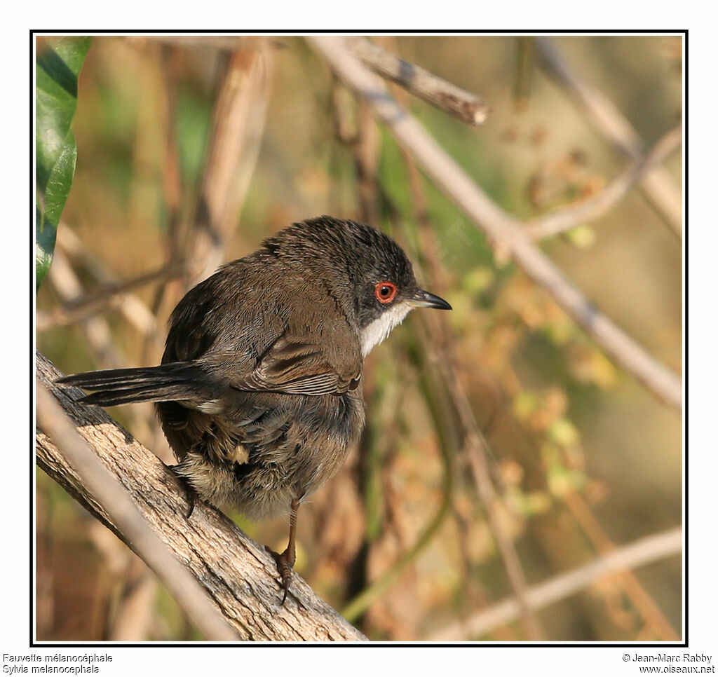
[[638, 378], [661, 401], [681, 409], [681, 378], [654, 360], [589, 302], [521, 232], [521, 223], [501, 210], [424, 128], [396, 104], [381, 80], [355, 60], [340, 39], [329, 36], [307, 39], [340, 78], [365, 98], [398, 143], [485, 233], [495, 249], [513, 256], [516, 263], [541, 284], [618, 365]]

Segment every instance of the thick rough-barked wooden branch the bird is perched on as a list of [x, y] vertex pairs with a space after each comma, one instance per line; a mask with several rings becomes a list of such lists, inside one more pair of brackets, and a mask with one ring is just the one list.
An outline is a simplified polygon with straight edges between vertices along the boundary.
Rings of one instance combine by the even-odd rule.
[[[296, 574], [281, 606], [276, 562], [222, 513], [197, 502], [185, 518], [185, 491], [172, 472], [102, 409], [73, 401], [76, 388], [53, 383], [62, 376], [42, 354], [37, 375], [52, 392], [78, 432], [134, 500], [174, 556], [212, 597], [226, 622], [243, 640], [361, 641], [358, 630], [317, 597]], [[90, 513], [136, 551], [111, 515], [80, 480], [64, 455], [45, 434], [36, 442], [37, 464]], [[138, 553], [139, 554], [139, 553]]]

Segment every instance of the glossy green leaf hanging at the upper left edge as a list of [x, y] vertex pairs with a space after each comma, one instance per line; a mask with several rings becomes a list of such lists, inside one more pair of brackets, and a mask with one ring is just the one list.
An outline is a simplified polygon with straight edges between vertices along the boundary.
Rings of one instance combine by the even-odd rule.
[[38, 39], [35, 79], [36, 289], [50, 269], [57, 224], [73, 184], [78, 150], [70, 126], [90, 37]]

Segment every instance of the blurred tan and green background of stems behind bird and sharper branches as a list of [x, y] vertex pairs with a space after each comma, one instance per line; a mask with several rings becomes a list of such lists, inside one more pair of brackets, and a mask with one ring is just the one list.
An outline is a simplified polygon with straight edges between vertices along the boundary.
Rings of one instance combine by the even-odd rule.
[[[470, 127], [391, 85], [521, 221], [599, 195], [630, 164], [556, 78], [545, 43], [372, 39], [485, 98], [488, 120]], [[680, 36], [548, 40], [646, 149], [681, 123]], [[533, 612], [488, 613], [681, 525], [681, 414], [493, 251], [307, 42], [95, 37], [73, 131], [75, 179], [37, 295], [37, 347], [65, 373], [159, 363], [189, 286], [325, 213], [391, 234], [454, 307], [412, 314], [373, 350], [360, 448], [299, 515], [295, 569], [371, 639], [681, 638], [674, 551]], [[678, 195], [681, 162], [679, 150], [663, 163]], [[537, 244], [681, 373], [681, 238], [666, 210], [634, 188]], [[111, 415], [172, 462], [151, 405]], [[284, 549], [286, 520], [228, 514]], [[38, 470], [37, 640], [197, 638], [144, 564]]]

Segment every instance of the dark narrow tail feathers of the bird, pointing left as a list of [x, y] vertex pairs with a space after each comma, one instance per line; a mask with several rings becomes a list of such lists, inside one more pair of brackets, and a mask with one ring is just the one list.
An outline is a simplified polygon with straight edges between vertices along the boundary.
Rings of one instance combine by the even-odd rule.
[[208, 375], [188, 362], [173, 362], [159, 367], [105, 369], [73, 374], [57, 379], [63, 386], [95, 391], [80, 402], [114, 406], [130, 402], [164, 402], [202, 397], [209, 386]]

